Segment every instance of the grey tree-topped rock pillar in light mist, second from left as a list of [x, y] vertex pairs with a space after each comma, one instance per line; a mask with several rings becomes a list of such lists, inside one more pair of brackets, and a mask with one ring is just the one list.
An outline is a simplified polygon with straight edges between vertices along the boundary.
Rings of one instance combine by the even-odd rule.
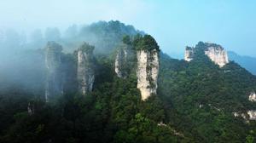
[[93, 83], [95, 80], [93, 50], [93, 46], [90, 46], [88, 43], [84, 43], [77, 51], [77, 78], [79, 82], [79, 92], [81, 94], [86, 94], [93, 89]]

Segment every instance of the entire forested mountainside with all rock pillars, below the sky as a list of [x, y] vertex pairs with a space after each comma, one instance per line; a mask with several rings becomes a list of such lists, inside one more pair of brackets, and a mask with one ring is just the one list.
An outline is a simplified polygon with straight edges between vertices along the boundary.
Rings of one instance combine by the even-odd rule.
[[2, 73], [0, 142], [256, 140], [256, 77], [212, 60], [220, 45], [187, 48], [186, 61], [119, 21], [68, 31], [26, 50], [18, 73]]

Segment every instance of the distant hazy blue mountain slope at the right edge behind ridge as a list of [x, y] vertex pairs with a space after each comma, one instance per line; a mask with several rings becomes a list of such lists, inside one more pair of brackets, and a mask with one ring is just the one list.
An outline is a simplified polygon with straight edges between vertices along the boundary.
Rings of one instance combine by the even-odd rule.
[[247, 69], [247, 71], [252, 72], [254, 75], [256, 75], [256, 58], [236, 54], [235, 52], [229, 51], [229, 58], [230, 60], [236, 61], [240, 66]]

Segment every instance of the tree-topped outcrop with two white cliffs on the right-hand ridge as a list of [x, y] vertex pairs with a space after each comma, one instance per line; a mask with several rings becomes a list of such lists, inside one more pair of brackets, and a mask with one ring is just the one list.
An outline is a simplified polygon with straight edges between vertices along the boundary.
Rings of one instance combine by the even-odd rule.
[[195, 52], [204, 50], [204, 53], [219, 67], [229, 63], [227, 52], [220, 45], [215, 43], [198, 43], [195, 48], [187, 47], [185, 50], [184, 60], [191, 61], [194, 59]]

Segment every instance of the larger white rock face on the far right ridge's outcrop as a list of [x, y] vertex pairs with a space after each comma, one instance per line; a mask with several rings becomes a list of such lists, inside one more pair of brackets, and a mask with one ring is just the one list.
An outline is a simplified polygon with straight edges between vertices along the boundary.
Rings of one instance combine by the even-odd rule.
[[219, 67], [223, 67], [229, 63], [228, 54], [224, 49], [218, 47], [209, 47], [205, 54]]

